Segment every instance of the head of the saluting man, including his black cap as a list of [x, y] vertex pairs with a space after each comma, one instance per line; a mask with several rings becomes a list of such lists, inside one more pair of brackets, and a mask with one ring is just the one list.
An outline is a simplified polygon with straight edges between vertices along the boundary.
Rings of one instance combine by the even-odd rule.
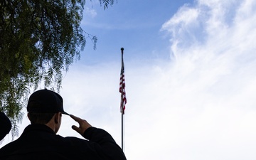
[[28, 99], [27, 111], [31, 124], [48, 124], [51, 119], [61, 122], [61, 114], [69, 115], [63, 110], [63, 98], [46, 89], [33, 92]]

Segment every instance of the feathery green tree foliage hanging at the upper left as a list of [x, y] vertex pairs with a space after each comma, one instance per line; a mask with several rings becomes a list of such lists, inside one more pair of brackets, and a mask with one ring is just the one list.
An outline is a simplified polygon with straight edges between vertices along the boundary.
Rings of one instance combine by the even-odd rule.
[[[99, 0], [105, 9], [113, 0]], [[0, 1], [0, 110], [18, 135], [31, 88], [44, 85], [59, 92], [62, 72], [80, 59], [86, 39], [82, 30], [85, 0]]]

